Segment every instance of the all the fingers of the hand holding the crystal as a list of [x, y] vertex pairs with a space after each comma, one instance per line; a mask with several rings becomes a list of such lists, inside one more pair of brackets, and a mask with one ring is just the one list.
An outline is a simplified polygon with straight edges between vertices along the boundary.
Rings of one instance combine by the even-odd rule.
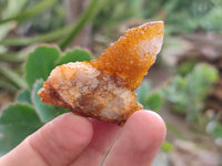
[[150, 111], [135, 112], [123, 127], [67, 113], [2, 156], [0, 165], [99, 166], [110, 149], [103, 166], [151, 166], [164, 138], [164, 122]]

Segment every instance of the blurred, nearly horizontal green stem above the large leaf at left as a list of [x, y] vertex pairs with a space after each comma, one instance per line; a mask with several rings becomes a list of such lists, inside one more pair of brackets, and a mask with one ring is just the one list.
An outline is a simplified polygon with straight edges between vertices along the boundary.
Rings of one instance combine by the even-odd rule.
[[6, 39], [6, 40], [0, 41], [0, 44], [6, 45], [6, 46], [9, 46], [9, 45], [22, 46], [22, 45], [34, 44], [38, 42], [49, 42], [49, 41], [59, 39], [60, 37], [67, 35], [68, 33], [71, 32], [71, 30], [72, 30], [72, 25], [69, 25], [69, 27], [64, 27], [62, 29], [54, 30], [52, 32], [36, 35], [36, 37]]

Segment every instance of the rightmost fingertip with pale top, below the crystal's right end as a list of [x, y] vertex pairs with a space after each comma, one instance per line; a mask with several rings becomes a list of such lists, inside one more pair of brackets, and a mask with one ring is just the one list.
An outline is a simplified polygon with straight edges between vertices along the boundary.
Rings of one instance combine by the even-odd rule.
[[150, 166], [165, 137], [165, 125], [155, 113], [139, 111], [125, 123], [104, 166]]

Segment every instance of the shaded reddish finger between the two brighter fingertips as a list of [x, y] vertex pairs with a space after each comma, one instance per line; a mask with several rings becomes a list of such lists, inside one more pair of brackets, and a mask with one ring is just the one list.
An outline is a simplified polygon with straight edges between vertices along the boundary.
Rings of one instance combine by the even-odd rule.
[[113, 123], [97, 120], [91, 120], [91, 123], [94, 131], [92, 141], [71, 166], [99, 166], [121, 129]]

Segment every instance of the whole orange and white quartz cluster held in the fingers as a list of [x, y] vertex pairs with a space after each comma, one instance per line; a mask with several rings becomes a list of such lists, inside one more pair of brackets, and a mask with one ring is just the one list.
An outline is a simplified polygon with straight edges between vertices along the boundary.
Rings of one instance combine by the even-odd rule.
[[57, 66], [38, 92], [42, 102], [123, 125], [143, 108], [133, 91], [161, 50], [163, 27], [157, 21], [129, 29], [99, 59]]

